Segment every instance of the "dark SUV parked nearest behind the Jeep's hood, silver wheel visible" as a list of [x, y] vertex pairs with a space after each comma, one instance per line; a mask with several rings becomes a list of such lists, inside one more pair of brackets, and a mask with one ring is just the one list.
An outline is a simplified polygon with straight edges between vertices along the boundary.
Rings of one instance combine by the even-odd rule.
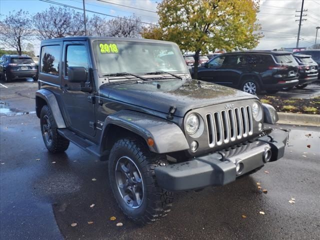
[[198, 68], [198, 79], [248, 93], [275, 93], [298, 84], [298, 64], [284, 51], [245, 51], [220, 54]]

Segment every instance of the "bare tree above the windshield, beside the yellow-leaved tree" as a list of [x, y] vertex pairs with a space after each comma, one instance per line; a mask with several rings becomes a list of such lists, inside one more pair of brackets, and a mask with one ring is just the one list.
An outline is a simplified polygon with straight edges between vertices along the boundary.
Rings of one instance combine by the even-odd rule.
[[141, 37], [142, 25], [136, 16], [118, 17], [107, 21], [110, 36]]

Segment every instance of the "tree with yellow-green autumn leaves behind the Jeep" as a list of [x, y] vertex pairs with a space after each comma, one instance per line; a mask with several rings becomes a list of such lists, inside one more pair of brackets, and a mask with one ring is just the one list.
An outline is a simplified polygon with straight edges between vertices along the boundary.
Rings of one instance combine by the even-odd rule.
[[162, 0], [157, 5], [158, 27], [143, 28], [142, 37], [176, 42], [181, 50], [195, 52], [194, 78], [198, 56], [208, 50], [227, 51], [254, 48], [260, 29], [255, 0]]

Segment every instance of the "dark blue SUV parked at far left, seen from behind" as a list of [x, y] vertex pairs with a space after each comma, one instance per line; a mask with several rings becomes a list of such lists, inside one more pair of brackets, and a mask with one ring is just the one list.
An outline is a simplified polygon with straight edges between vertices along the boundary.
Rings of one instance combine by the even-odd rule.
[[37, 73], [37, 65], [28, 55], [2, 55], [0, 57], [0, 74], [5, 82], [26, 77], [37, 80]]

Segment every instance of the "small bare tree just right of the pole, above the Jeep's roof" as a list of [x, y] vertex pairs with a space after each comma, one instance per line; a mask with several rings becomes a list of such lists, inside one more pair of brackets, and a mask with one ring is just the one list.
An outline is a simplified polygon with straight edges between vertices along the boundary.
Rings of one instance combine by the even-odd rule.
[[87, 21], [87, 32], [91, 36], [108, 36], [110, 35], [107, 21], [97, 15], [93, 15]]

